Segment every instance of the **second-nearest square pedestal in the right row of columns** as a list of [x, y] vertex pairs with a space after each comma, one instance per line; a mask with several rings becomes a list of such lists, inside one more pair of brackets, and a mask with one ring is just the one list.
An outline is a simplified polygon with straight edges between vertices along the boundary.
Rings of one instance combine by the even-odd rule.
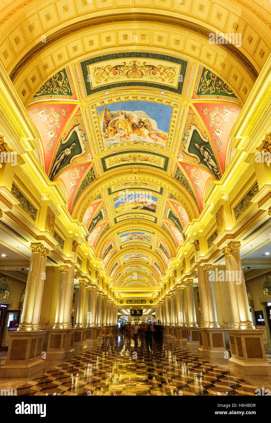
[[228, 358], [225, 344], [224, 328], [200, 328], [200, 348], [197, 350], [200, 357], [207, 357], [214, 360]]

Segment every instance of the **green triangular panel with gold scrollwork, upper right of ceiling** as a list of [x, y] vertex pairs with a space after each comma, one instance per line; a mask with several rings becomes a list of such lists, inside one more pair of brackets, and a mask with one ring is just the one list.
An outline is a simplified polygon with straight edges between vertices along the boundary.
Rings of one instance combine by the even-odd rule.
[[208, 95], [208, 96], [227, 96], [237, 99], [232, 89], [220, 79], [214, 72], [209, 69], [203, 68], [200, 83], [197, 89], [197, 95]]

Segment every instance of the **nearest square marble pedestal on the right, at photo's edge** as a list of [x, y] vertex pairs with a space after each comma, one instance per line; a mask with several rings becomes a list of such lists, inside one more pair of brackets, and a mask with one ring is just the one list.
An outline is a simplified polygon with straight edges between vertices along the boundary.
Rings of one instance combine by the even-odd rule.
[[230, 339], [230, 370], [248, 375], [271, 375], [263, 346], [264, 330], [227, 329]]

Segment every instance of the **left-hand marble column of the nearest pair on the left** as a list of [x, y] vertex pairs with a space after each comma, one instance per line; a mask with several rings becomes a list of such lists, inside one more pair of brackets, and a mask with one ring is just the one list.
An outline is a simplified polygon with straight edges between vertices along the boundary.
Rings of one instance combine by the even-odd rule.
[[30, 244], [31, 258], [29, 264], [29, 272], [27, 275], [27, 283], [25, 287], [25, 299], [22, 308], [22, 319], [17, 332], [30, 332], [33, 330], [33, 312], [35, 307], [35, 297], [38, 283], [40, 282], [40, 261], [43, 245], [41, 243]]

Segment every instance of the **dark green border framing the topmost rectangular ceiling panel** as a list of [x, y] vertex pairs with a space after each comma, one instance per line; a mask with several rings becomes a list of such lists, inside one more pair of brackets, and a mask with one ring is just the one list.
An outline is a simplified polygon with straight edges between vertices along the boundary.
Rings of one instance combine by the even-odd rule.
[[[89, 82], [89, 75], [88, 75], [88, 65], [91, 65], [93, 63], [99, 63], [104, 62], [106, 60], [107, 63], [109, 63], [110, 60], [113, 59], [120, 59], [120, 65], [125, 61], [126, 58], [146, 58], [146, 59], [156, 59], [156, 60], [166, 60], [167, 62], [177, 63], [178, 65], [181, 65], [181, 74], [179, 75], [179, 82], [178, 87], [171, 87], [170, 85], [163, 85], [163, 83], [160, 82], [141, 82], [139, 80], [133, 80], [133, 81], [121, 81], [121, 82], [115, 82], [115, 83], [109, 83], [107, 85], [101, 85], [96, 88], [91, 88], [90, 82]], [[82, 69], [82, 75], [85, 83], [85, 89], [88, 96], [91, 94], [97, 93], [99, 91], [105, 91], [109, 90], [110, 88], [120, 88], [121, 86], [125, 87], [155, 87], [157, 88], [157, 85], [159, 85], [159, 89], [164, 89], [167, 91], [172, 91], [173, 93], [181, 94], [183, 91], [183, 82], [185, 80], [185, 74], [186, 74], [186, 68], [187, 68], [186, 60], [179, 59], [172, 56], [162, 55], [162, 54], [156, 54], [151, 52], [122, 52], [122, 53], [112, 53], [109, 55], [103, 55], [98, 57], [93, 57], [87, 60], [84, 60], [81, 62], [81, 69]]]

